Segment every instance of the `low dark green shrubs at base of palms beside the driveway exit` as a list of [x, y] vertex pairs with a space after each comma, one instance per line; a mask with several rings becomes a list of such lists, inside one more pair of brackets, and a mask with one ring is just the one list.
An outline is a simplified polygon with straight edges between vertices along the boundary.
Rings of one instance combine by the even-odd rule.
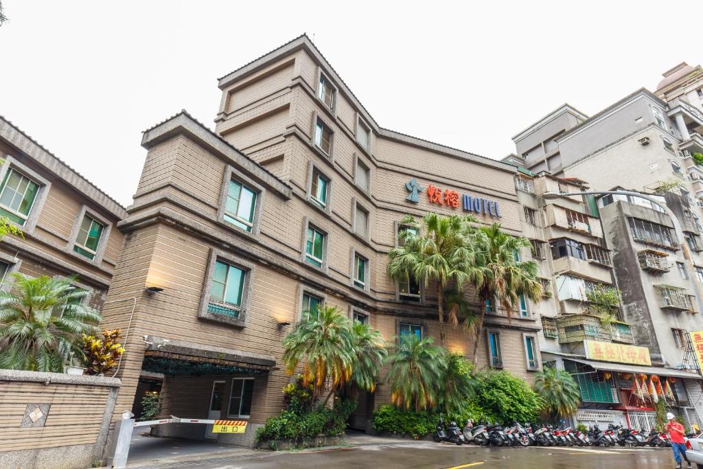
[[[256, 446], [277, 439], [287, 439], [296, 446], [305, 444], [307, 439], [325, 435], [335, 437], [344, 433], [347, 419], [356, 409], [356, 400], [343, 399], [335, 401], [333, 409], [318, 407], [304, 412], [283, 411], [278, 416], [266, 419], [264, 426], [257, 429], [254, 437]], [[275, 447], [269, 443], [269, 448]]]

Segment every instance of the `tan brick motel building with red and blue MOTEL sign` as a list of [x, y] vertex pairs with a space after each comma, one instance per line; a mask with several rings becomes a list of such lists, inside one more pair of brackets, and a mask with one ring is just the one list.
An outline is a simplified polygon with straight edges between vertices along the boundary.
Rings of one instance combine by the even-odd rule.
[[[143, 135], [108, 297], [136, 297], [136, 308], [105, 317], [131, 330], [117, 412], [139, 399], [140, 376], [160, 373], [164, 415], [249, 422], [245, 435], [171, 434], [250, 444], [283, 408], [281, 340], [303, 311], [334, 305], [390, 342], [439, 342], [433, 286], [387, 275], [405, 214], [470, 213], [517, 235], [522, 207], [514, 167], [380, 127], [306, 36], [219, 88], [214, 132], [180, 113]], [[520, 310], [486, 317], [478, 363], [529, 380], [540, 326], [530, 305]], [[446, 346], [470, 356], [473, 342], [449, 328]], [[352, 425], [366, 428], [389, 400], [383, 383], [363, 394]]]

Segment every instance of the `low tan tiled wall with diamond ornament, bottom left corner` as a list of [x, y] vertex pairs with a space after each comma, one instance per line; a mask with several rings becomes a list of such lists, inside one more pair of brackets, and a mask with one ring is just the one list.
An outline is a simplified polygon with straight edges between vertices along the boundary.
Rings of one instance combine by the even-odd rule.
[[0, 467], [101, 461], [119, 387], [115, 378], [0, 370]]

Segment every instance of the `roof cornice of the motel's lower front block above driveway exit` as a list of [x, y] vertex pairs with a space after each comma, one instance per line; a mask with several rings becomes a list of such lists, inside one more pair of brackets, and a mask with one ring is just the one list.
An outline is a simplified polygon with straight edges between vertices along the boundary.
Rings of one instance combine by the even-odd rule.
[[201, 122], [195, 120], [186, 110], [181, 110], [180, 113], [173, 117], [169, 117], [169, 119], [156, 124], [154, 127], [146, 129], [143, 132], [141, 146], [148, 150], [176, 135], [188, 136], [188, 138], [193, 139], [208, 150], [218, 153], [227, 162], [236, 165], [239, 169], [243, 169], [247, 174], [276, 191], [279, 195], [286, 199], [291, 198], [292, 188], [288, 184], [278, 179], [268, 169], [245, 156], [231, 143], [222, 139], [221, 136], [215, 134]]

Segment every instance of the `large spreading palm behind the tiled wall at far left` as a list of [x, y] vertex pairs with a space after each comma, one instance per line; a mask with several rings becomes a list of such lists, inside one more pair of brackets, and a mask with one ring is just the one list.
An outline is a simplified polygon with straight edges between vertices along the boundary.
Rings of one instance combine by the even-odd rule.
[[72, 354], [82, 356], [82, 334], [102, 321], [82, 304], [89, 292], [75, 277], [13, 274], [11, 291], [0, 292], [0, 368], [62, 373]]

